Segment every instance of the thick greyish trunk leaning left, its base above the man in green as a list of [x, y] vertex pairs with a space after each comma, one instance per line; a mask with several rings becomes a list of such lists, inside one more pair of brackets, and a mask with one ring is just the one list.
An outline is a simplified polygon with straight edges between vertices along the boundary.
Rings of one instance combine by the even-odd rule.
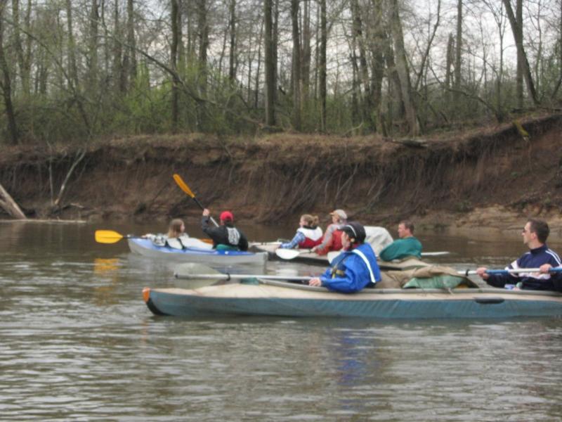
[[417, 118], [414, 100], [412, 98], [412, 84], [410, 82], [410, 73], [404, 48], [404, 35], [402, 31], [402, 23], [400, 22], [400, 14], [398, 13], [398, 0], [391, 0], [391, 32], [394, 41], [394, 52], [396, 56], [396, 70], [400, 79], [400, 91], [402, 92], [402, 101], [404, 103], [406, 120], [410, 129], [411, 136], [419, 135], [419, 122]]

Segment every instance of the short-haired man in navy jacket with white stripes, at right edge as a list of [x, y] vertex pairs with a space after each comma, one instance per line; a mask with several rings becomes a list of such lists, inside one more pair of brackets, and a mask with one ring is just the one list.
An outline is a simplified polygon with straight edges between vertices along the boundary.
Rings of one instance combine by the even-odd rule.
[[523, 290], [562, 291], [561, 273], [549, 273], [551, 268], [561, 266], [558, 254], [547, 246], [549, 233], [547, 222], [540, 219], [528, 219], [521, 236], [529, 251], [506, 267], [506, 269], [539, 268], [540, 272], [490, 275], [486, 273], [486, 267], [480, 267], [476, 269], [476, 274], [490, 286], [499, 288], [512, 284]]

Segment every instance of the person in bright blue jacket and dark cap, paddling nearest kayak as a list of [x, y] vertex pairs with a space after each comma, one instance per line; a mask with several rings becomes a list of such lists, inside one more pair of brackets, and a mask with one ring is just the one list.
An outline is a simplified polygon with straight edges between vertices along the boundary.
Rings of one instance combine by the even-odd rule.
[[344, 252], [332, 261], [331, 268], [308, 284], [340, 293], [355, 293], [365, 287], [374, 287], [381, 280], [381, 271], [371, 245], [365, 243], [365, 228], [358, 222], [348, 222], [340, 230]]

